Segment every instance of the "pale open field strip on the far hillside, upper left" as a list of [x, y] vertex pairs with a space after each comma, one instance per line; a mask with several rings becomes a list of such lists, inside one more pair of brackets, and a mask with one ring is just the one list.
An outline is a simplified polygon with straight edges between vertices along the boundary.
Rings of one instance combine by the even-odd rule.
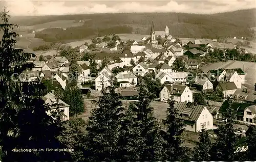
[[57, 20], [57, 21], [51, 21], [47, 23], [41, 23], [31, 26], [20, 26], [20, 28], [25, 28], [28, 30], [34, 30], [35, 32], [41, 31], [42, 29], [46, 28], [69, 28], [69, 27], [75, 27], [82, 25], [82, 22], [75, 22], [75, 20]]

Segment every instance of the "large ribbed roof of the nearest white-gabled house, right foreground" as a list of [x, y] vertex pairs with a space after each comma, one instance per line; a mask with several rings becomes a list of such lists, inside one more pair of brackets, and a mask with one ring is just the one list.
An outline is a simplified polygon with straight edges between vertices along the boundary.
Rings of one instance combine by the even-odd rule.
[[[176, 108], [179, 112], [179, 119], [191, 121], [191, 122], [197, 122], [200, 114], [204, 110], [204, 105], [195, 104], [195, 103], [185, 103], [185, 102], [179, 102], [176, 105]], [[206, 108], [207, 109], [207, 108]], [[181, 114], [188, 115], [188, 117], [181, 116]]]

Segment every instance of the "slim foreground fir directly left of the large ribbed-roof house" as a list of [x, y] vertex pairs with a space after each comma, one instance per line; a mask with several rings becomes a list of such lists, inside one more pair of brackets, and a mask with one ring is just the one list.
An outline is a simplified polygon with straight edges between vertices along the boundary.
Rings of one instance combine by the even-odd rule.
[[182, 146], [182, 133], [184, 132], [184, 123], [178, 118], [178, 110], [175, 107], [175, 101], [168, 99], [166, 120], [163, 120], [166, 126], [166, 132], [163, 132], [165, 140], [164, 150], [165, 159], [170, 161], [180, 161], [187, 158], [188, 148]]

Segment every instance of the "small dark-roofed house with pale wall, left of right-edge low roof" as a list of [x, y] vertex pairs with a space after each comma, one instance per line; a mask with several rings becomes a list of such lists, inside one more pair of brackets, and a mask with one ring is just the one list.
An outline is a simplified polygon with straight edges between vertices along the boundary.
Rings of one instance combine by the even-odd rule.
[[220, 90], [223, 93], [224, 98], [227, 98], [227, 97], [231, 97], [238, 88], [236, 84], [234, 84], [233, 82], [227, 82], [227, 83], [219, 83], [216, 89]]

